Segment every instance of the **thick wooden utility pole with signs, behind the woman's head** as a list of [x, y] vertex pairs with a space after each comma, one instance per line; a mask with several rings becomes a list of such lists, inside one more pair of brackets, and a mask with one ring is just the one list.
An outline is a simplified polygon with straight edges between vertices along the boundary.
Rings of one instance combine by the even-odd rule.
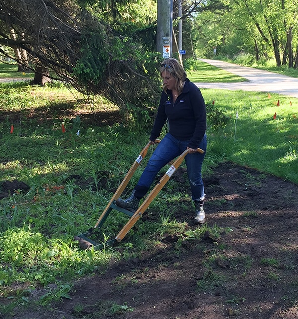
[[157, 0], [157, 51], [172, 57], [173, 0]]

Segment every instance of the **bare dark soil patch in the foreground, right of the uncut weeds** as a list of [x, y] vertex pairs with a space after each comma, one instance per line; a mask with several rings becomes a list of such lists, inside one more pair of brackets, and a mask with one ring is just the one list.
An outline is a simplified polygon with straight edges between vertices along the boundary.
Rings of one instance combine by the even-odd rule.
[[[71, 299], [50, 310], [7, 318], [297, 319], [298, 186], [233, 163], [205, 186], [206, 222], [221, 228], [219, 239], [205, 233], [178, 245], [181, 234], [164, 236], [142, 257], [76, 281]], [[194, 228], [193, 213], [175, 218]]]

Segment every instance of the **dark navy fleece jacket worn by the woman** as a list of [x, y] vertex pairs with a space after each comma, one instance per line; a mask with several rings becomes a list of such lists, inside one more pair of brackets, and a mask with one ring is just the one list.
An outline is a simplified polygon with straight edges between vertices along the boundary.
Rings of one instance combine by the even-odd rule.
[[196, 149], [206, 131], [206, 108], [199, 88], [186, 78], [182, 93], [173, 103], [172, 91], [162, 91], [150, 140], [155, 141], [169, 120], [170, 130], [177, 140], [189, 140], [188, 147]]

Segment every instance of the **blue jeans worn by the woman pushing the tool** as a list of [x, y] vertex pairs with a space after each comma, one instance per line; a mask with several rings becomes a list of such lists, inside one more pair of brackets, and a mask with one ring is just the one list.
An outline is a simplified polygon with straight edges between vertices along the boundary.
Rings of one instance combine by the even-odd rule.
[[[181, 153], [183, 153], [188, 145], [189, 141], [179, 141], [171, 134], [167, 133], [165, 137], [158, 144], [157, 148], [153, 152], [151, 158], [148, 161], [136, 187], [135, 196], [142, 198], [150, 186], [152, 185], [159, 170], [168, 164], [171, 160], [175, 159]], [[202, 141], [199, 144], [199, 148], [206, 151], [207, 138], [204, 135]], [[187, 167], [188, 180], [191, 187], [192, 199], [194, 201], [203, 201], [205, 198], [204, 185], [202, 180], [202, 163], [205, 157], [203, 154], [197, 152], [187, 154], [185, 156], [185, 163]]]

